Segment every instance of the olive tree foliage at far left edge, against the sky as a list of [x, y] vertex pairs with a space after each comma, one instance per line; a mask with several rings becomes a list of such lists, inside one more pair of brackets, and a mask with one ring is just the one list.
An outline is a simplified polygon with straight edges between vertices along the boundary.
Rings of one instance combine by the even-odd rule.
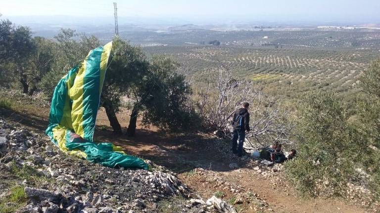
[[51, 70], [54, 42], [34, 37], [27, 27], [0, 22], [0, 84], [9, 87], [19, 82], [23, 93], [33, 95], [41, 78]]

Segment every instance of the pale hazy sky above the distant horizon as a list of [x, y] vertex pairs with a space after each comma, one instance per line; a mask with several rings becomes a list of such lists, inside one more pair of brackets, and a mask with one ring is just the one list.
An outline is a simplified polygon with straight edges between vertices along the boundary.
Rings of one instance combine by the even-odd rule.
[[380, 0], [0, 0], [9, 16], [119, 16], [178, 19], [272, 19], [380, 23]]

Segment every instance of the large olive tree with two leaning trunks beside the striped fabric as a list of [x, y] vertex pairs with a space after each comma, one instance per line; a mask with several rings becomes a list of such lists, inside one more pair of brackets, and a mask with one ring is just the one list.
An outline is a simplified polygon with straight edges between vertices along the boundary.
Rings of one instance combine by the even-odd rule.
[[121, 96], [133, 102], [129, 136], [135, 135], [140, 113], [144, 124], [171, 130], [187, 128], [191, 118], [187, 104], [190, 86], [186, 84], [185, 76], [179, 73], [179, 68], [178, 63], [163, 56], [153, 57], [149, 62], [141, 48], [131, 46], [119, 37], [114, 38], [101, 106], [116, 134], [122, 132], [116, 117]]

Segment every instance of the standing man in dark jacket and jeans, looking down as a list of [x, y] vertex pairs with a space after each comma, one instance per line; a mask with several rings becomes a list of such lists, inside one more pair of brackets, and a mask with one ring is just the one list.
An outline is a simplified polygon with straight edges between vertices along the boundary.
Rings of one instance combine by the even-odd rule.
[[[232, 126], [234, 127], [234, 135], [232, 138], [232, 151], [235, 154], [238, 154], [239, 157], [243, 155], [245, 131], [248, 132], [251, 130], [249, 128], [248, 108], [249, 108], [249, 104], [245, 102], [243, 104], [243, 107], [235, 111], [234, 117], [232, 119]], [[238, 143], [238, 140], [239, 140], [239, 143]]]

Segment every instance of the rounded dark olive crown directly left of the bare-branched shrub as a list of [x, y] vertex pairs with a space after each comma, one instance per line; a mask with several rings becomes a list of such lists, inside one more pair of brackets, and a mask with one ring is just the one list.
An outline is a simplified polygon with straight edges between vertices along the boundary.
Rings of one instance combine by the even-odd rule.
[[140, 103], [146, 109], [143, 122], [164, 130], [189, 129], [197, 120], [190, 107], [190, 87], [171, 58], [156, 56], [152, 59], [149, 75], [139, 87]]

